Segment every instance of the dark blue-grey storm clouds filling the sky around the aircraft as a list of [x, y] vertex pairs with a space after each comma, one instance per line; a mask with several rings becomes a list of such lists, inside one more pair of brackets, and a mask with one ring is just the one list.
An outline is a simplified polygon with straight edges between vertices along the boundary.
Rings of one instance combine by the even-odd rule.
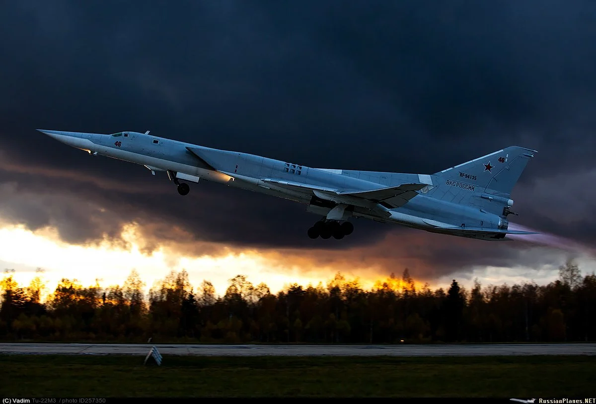
[[411, 232], [364, 220], [341, 244], [313, 243], [302, 206], [212, 184], [180, 198], [163, 175], [34, 129], [151, 130], [315, 167], [423, 173], [518, 144], [539, 154], [512, 220], [591, 242], [595, 23], [588, 1], [13, 2], [0, 14], [0, 214], [72, 243], [134, 220], [151, 245], [178, 226], [187, 247], [500, 265], [520, 247], [420, 232], [408, 253], [375, 243]]

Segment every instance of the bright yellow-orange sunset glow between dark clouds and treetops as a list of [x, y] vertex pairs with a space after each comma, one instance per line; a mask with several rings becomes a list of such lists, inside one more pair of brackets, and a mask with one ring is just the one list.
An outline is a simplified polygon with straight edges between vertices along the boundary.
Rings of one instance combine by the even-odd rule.
[[[15, 269], [14, 279], [21, 284], [28, 284], [38, 275], [35, 269], [42, 268], [50, 290], [62, 278], [76, 279], [83, 285], [94, 285], [96, 281], [102, 286], [119, 284], [132, 269], [147, 282], [147, 290], [169, 271], [182, 269], [188, 272], [193, 284], [198, 285], [203, 279], [212, 282], [218, 294], [225, 293], [228, 279], [238, 274], [246, 275], [255, 285], [264, 282], [273, 293], [294, 283], [325, 285], [339, 271], [346, 278], [357, 279], [364, 288], [383, 287], [383, 283], [390, 288], [402, 287], [403, 268], [395, 271], [395, 278], [390, 278], [389, 273], [382, 274], [382, 269], [374, 263], [346, 266], [331, 262], [313, 269], [313, 260], [296, 251], [240, 251], [222, 247], [215, 254], [192, 257], [164, 245], [147, 253], [141, 251], [142, 241], [135, 239], [134, 226], [128, 226], [122, 237], [128, 244], [126, 248], [108, 241], [80, 246], [60, 241], [51, 228], [33, 232], [23, 226], [6, 226], [0, 229], [0, 265]], [[423, 286], [415, 279], [413, 284], [417, 288]]]

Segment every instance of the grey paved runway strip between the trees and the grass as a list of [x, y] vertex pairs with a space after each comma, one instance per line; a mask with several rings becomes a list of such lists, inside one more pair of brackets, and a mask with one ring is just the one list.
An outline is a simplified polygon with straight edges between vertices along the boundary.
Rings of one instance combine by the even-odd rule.
[[[151, 344], [0, 343], [0, 354], [147, 355]], [[596, 355], [596, 344], [192, 345], [156, 344], [162, 355], [194, 356], [504, 356]]]

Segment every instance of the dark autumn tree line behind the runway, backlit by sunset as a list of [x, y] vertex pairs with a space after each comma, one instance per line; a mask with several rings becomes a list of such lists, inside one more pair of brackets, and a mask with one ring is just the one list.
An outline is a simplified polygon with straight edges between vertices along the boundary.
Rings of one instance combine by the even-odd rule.
[[[201, 343], [437, 343], [596, 340], [596, 275], [569, 261], [559, 278], [508, 286], [454, 279], [445, 290], [417, 288], [408, 269], [364, 290], [338, 272], [324, 286], [293, 284], [271, 293], [244, 275], [224, 296], [209, 281], [193, 288], [188, 273], [170, 272], [143, 292], [132, 271], [123, 285], [83, 287], [62, 279], [42, 302], [38, 274], [20, 287], [0, 283], [0, 339]], [[151, 339], [150, 339], [151, 338]]]

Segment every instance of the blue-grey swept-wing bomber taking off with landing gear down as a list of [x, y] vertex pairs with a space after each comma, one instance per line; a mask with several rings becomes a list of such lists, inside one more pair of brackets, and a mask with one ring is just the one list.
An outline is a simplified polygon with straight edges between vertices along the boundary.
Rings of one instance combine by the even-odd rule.
[[320, 169], [253, 154], [194, 145], [141, 132], [112, 134], [37, 129], [91, 156], [142, 164], [165, 172], [187, 195], [200, 179], [285, 198], [322, 216], [310, 238], [352, 234], [352, 217], [397, 223], [429, 232], [508, 240], [511, 190], [537, 153], [511, 146], [434, 174]]

